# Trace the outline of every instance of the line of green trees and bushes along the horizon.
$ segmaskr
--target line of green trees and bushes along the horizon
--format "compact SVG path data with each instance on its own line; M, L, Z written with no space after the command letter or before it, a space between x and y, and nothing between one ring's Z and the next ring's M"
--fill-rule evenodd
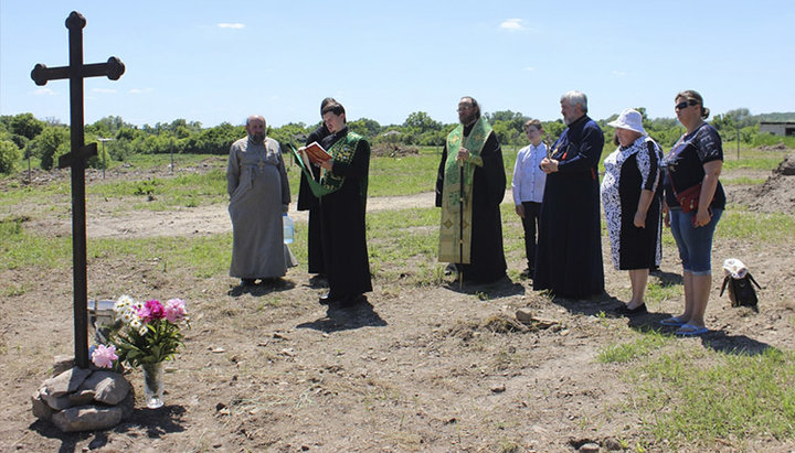
M664 148L670 147L681 136L683 129L675 118L647 118L646 109L639 107L644 118L644 127L649 134ZM524 145L527 138L522 126L530 119L518 111L500 110L484 114L491 123L495 133L504 145ZM607 122L617 115L598 120L607 137L612 128ZM759 133L762 120L795 120L793 114L751 115L749 109L739 108L717 115L711 123L721 132L724 140L736 140L750 145L774 144L781 138L765 137ZM552 143L565 129L562 120L542 121L545 140ZM320 122L306 125L290 122L278 128L268 128L268 136L280 143L303 144L304 138L315 130ZM373 144L442 147L447 133L455 127L453 123L436 121L424 111L409 115L402 125L381 126L378 121L360 118L349 121L350 130L368 137ZM245 137L242 125L234 126L222 122L219 126L204 128L201 122L176 119L170 123L158 122L155 126L138 127L125 122L121 117L109 116L86 125L86 143L98 142L99 139L112 139L106 147L98 147L99 154L89 160L88 165L100 168L102 153L105 160L125 161L136 153L195 153L226 154L235 140ZM788 141L788 140L787 140ZM612 149L610 140L605 145ZM795 145L795 143L787 143ZM0 173L8 174L14 170L20 159L36 158L44 170L57 164L57 159L70 151L70 129L57 120L41 120L33 114L0 116ZM105 151L103 151L105 149Z

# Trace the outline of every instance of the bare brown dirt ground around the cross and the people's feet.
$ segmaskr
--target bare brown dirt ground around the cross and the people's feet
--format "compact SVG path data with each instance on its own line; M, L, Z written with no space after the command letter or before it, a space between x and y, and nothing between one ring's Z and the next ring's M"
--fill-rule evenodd
M792 214L795 176L765 173L782 182L768 185L766 193L729 185L730 202L751 205L768 195L774 202L766 209ZM89 183L95 176L89 175ZM20 205L0 212L0 218L25 215L25 228L68 235L68 197L53 203L46 208ZM89 203L89 240L205 236L231 228L221 204L125 214L115 203L125 202ZM432 194L421 194L371 198L368 207L432 204ZM301 220L301 214L295 217ZM672 347L742 354L795 347L792 250L716 241L717 277L707 316L712 332ZM377 277L368 303L349 311L319 305L322 281L301 270L290 270L276 284L242 289L229 277L199 279L160 259L89 257L92 298L180 296L188 301L192 328L187 347L167 369L163 408L148 410L138 401L130 420L108 431L77 434L38 421L29 400L50 376L53 356L73 350L72 270L2 271L3 284L22 290L4 291L11 295L0 311L0 378L6 382L0 390L0 451L572 452L589 442L601 444L602 451L621 442L669 451L667 444L654 443L633 410L636 396L623 375L626 366L601 364L596 356L638 336L638 328L656 327L660 319L678 314L681 296L651 304L648 315L633 320L598 316L629 295L627 276L610 266L606 238L603 254L606 294L589 301L550 301L526 279L459 289L453 278L416 285ZM718 296L720 266L730 257L743 259L763 285L761 313L732 309L725 296ZM509 267L522 269L523 262ZM667 247L651 279L677 283L680 276L676 252ZM517 323L518 309L550 325ZM140 398L140 371L131 370L128 378ZM793 447L792 440L760 436L745 444L723 440L708 450Z

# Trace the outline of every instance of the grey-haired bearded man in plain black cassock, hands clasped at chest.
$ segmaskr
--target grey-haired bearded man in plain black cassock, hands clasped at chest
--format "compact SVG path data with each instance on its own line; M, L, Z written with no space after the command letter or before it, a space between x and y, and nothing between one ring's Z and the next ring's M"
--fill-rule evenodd
M598 161L604 134L581 91L561 97L568 128L541 161L547 185L539 220L534 290L586 299L604 292Z

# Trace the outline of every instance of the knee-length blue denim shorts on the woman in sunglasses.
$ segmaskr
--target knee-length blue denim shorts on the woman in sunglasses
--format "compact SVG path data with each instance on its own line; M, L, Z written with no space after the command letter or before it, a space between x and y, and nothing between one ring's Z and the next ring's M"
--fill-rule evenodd
M712 273L712 236L723 209L712 209L712 219L702 227L693 227L696 211L682 213L681 209L670 211L671 235L679 248L682 269L693 276Z

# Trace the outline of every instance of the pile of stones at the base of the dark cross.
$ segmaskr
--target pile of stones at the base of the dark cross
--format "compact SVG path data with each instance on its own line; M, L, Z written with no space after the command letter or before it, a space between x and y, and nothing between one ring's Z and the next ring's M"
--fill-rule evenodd
M85 369L68 360L31 396L33 414L63 432L105 430L132 414L135 395L118 373Z

